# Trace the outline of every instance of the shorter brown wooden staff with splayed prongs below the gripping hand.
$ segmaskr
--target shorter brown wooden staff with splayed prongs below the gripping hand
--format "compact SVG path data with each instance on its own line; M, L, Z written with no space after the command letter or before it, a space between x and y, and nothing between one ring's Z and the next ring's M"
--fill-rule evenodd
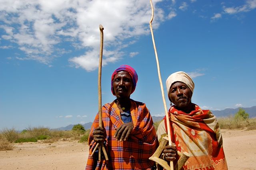
M100 58L99 58L99 70L98 70L98 106L99 106L99 127L102 127L102 106L101 106L101 66L102 66L102 51L103 51L103 29L102 25L100 27ZM94 152L98 148L99 150L99 160L101 160L101 148L104 153L105 159L108 160L108 154L103 144L95 146L94 150L92 151L91 157L93 156Z

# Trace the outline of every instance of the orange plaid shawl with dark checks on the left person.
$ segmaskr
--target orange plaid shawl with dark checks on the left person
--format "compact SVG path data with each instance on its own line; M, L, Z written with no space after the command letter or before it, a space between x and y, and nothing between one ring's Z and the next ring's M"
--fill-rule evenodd
M109 160L108 162L98 161L96 170L151 170L154 167L154 162L148 160L158 147L152 117L145 104L134 100L131 100L130 111L134 128L128 140L120 142L113 137L116 132L115 128L124 123L118 107L115 102L102 107L102 122L107 133L105 148ZM98 160L98 158L90 157L96 145L92 134L96 127L98 127L98 114L94 119L88 139L90 151L86 170L92 170L94 161Z

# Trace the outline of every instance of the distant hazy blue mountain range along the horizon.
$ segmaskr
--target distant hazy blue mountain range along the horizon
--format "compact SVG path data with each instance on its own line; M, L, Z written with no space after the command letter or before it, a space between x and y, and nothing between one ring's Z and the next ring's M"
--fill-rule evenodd
M256 106L252 107L238 107L236 109L224 109L224 110L211 110L216 117L228 117L229 115L234 115L236 112L238 112L239 108L242 108L246 111L246 113L249 113L250 117L256 117ZM152 116L152 119L154 122L160 121L164 118L164 116ZM59 127L56 128L56 130L61 131L69 131L73 128L74 125L68 125L66 127ZM92 126L92 122L85 123L83 125L84 129L90 129Z

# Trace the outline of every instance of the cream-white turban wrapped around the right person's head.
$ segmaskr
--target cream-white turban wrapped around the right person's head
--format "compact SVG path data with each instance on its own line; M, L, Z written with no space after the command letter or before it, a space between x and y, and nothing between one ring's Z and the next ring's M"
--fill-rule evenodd
M178 71L178 72L172 73L166 80L166 88L167 88L168 96L169 96L170 87L172 86L172 84L174 82L185 83L188 86L188 88L190 88L191 92L193 93L195 84L194 84L192 78L186 72Z

